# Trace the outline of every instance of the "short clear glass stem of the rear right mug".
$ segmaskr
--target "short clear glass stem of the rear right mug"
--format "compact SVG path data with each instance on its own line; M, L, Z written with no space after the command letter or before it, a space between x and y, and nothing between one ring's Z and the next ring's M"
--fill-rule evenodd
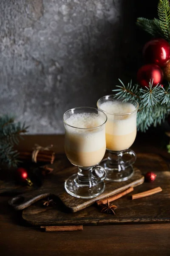
M122 151L110 151L108 150L107 166L111 169L116 168L118 171L122 171Z

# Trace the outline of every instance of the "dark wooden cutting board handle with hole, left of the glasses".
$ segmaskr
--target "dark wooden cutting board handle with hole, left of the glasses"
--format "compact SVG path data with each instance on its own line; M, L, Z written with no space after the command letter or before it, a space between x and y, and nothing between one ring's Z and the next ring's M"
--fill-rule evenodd
M46 198L50 196L51 193L42 193L40 194L40 191L32 192L30 194L26 193L23 195L17 195L13 198L11 198L8 201L8 204L11 205L15 210L23 210L26 207L30 206L31 204L34 204L35 202L39 201L42 198Z

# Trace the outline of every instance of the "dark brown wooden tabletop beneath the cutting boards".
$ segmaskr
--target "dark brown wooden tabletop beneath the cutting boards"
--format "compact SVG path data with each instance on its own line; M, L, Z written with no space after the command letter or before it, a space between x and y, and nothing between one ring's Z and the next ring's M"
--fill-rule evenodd
M56 152L64 152L62 135L25 136L20 148L31 149L34 143L52 143ZM160 154L170 162L163 144L162 132L138 134L132 149ZM11 209L8 199L0 196L0 256L170 255L170 224L85 226L79 232L43 233L38 228L23 226L21 212Z

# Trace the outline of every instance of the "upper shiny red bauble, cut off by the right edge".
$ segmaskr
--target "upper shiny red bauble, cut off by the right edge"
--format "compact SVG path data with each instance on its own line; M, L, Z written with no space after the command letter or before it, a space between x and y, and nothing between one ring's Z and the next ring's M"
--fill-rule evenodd
M170 59L170 44L163 38L150 40L144 45L144 60L163 67Z

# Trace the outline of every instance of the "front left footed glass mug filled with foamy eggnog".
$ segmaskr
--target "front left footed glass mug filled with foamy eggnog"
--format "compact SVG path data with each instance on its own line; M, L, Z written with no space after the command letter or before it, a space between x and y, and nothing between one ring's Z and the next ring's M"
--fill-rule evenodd
M65 154L78 173L65 181L65 190L77 198L94 198L105 189L107 172L97 166L105 155L107 116L96 108L73 108L64 113Z

